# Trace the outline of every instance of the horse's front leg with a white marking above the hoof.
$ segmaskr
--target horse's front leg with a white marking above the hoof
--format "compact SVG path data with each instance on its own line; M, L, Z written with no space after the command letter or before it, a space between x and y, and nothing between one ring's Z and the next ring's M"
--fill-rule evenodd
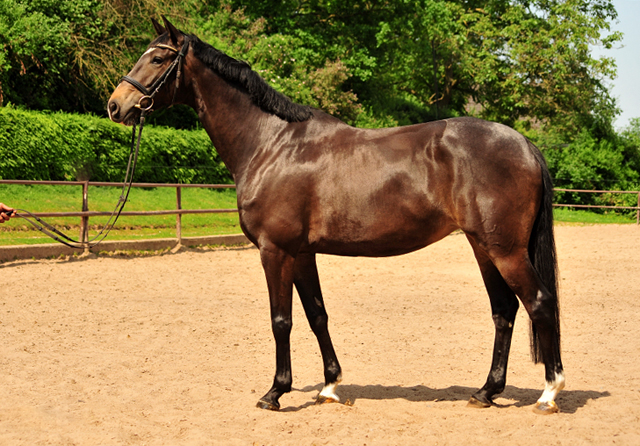
M324 363L325 385L318 395L318 403L338 402L335 390L342 379L342 371L333 349L327 327L328 316L324 308L315 254L300 254L294 268L294 284L309 320L311 330L318 339Z

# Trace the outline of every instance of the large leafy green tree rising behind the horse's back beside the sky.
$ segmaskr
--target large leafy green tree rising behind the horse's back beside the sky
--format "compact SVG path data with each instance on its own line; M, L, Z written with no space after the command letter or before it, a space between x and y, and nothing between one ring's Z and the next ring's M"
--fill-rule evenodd
M401 123L477 114L512 126L610 131L610 0L234 0L269 34L340 58L365 109ZM311 58L313 63L313 58Z

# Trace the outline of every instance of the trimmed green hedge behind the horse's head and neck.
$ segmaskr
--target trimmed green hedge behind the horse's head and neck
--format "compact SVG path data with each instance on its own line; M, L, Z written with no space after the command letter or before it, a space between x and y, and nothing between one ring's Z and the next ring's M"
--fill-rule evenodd
M122 181L131 128L91 115L0 107L0 178ZM150 183L231 183L204 130L145 126L134 177Z

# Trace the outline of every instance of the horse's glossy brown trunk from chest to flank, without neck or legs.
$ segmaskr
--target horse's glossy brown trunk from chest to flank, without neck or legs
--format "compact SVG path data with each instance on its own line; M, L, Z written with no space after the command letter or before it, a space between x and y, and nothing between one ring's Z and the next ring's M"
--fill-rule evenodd
M509 169L493 167L487 158L495 154L465 134L475 120L452 121L338 126L315 130L304 144L285 140L254 176L250 203L241 203L245 231L291 251L361 256L402 254L441 239L476 218L478 200L491 196L493 171Z

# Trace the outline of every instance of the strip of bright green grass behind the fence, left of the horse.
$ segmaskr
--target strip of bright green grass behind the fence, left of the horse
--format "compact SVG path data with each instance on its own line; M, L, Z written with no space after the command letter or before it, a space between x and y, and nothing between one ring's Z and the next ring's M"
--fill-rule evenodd
M89 210L113 211L121 188L89 187ZM0 185L0 201L30 212L76 212L82 210L81 186ZM175 188L132 188L125 211L176 208ZM235 209L234 189L182 188L182 209ZM89 219L89 238L97 234L107 217ZM80 232L80 217L49 217L46 221L73 238ZM239 234L237 213L182 216L182 236ZM135 240L176 237L176 216L121 216L108 240ZM0 245L49 243L51 239L34 230L21 218L0 226Z

